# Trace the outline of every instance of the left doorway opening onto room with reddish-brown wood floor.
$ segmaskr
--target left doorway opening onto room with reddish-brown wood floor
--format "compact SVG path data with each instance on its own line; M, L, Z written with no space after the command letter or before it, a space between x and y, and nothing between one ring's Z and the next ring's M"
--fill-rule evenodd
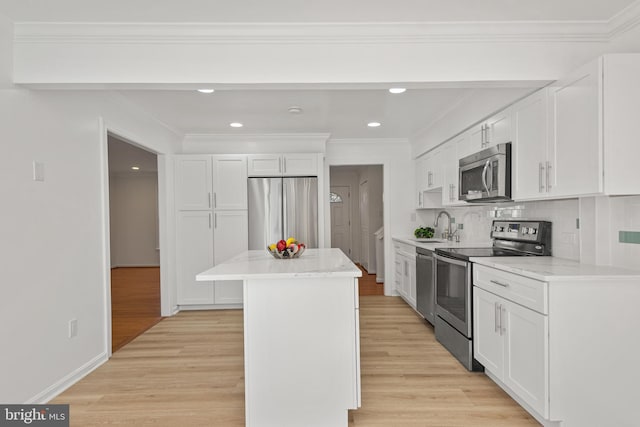
M107 135L111 350L158 323L160 243L157 155Z

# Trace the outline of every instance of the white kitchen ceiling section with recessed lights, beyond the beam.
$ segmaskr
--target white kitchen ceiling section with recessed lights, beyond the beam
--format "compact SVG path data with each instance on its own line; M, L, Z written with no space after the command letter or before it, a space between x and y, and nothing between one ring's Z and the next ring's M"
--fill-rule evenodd
M129 90L121 93L181 133L330 133L332 138L406 138L472 89ZM288 109L300 107L300 114ZM382 124L370 128L367 123ZM232 128L231 122L243 123Z

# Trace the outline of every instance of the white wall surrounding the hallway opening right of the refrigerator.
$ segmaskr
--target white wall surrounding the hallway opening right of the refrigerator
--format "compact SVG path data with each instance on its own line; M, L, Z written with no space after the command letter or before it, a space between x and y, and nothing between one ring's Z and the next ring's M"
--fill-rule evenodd
M326 173L329 166L340 165L382 165L383 202L385 227L385 253L392 251L391 236L406 234L411 228L413 192L404 191L407 185L413 188L413 160L411 148L406 140L330 140L326 151ZM329 192L329 183L325 194ZM329 221L327 203L325 221ZM413 222L415 224L415 221ZM413 226L415 228L415 226ZM413 230L413 228L411 228ZM329 223L325 227L327 242L331 241ZM393 271L391 257L385 258L385 271ZM393 284L385 282L385 295L393 294Z

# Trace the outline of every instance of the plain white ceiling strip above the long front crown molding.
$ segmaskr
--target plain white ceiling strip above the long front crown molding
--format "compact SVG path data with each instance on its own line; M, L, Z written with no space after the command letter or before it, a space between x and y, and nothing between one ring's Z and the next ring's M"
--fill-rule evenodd
M606 21L633 0L2 0L15 22Z

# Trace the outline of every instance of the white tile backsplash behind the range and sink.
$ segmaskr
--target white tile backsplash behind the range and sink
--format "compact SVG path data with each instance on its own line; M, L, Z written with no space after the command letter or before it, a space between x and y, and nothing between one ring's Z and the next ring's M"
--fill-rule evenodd
M553 255L580 259L580 233L576 228L579 217L578 199L421 209L416 211L418 225L433 226L435 215L441 210L446 210L455 218L456 224L463 224L463 229L458 230L458 233L461 241L467 243L487 242L490 239L491 224L497 217L551 221ZM441 217L436 230L437 236L440 236L447 225L446 217Z

